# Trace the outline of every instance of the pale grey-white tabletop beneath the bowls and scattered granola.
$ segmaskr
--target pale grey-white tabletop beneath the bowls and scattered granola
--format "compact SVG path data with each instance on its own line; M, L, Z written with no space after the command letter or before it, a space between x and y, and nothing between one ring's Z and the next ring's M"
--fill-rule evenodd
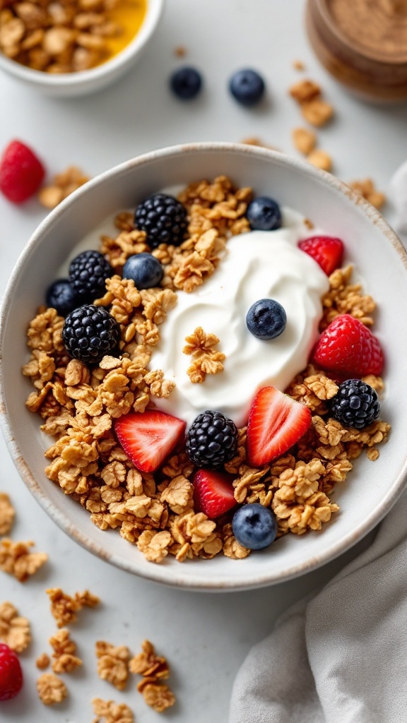
M407 106L372 106L338 87L309 48L303 6L303 0L167 0L161 27L138 66L114 87L88 98L43 98L1 76L0 147L17 137L37 150L50 175L75 163L92 176L130 156L185 141L256 136L295 153L290 132L301 118L287 91L308 76L321 83L336 109L335 121L318 133L319 146L332 155L335 174L345 181L370 176L386 192L407 153ZM175 56L176 46L185 46L185 59ZM296 59L306 66L303 74L293 69ZM187 62L201 69L205 88L198 100L180 103L169 94L167 77ZM227 93L230 74L245 66L259 69L267 80L268 102L261 110L241 108ZM390 202L384 213L391 222ZM35 201L17 207L0 197L1 288L44 215ZM172 665L169 683L178 702L167 719L226 722L232 680L250 646L272 629L283 609L324 583L357 552L297 581L259 591L167 589L112 568L65 536L25 489L2 439L0 444L0 490L9 493L17 508L12 537L32 539L49 554L49 563L25 585L0 573L0 601L12 601L33 630L33 642L21 656L25 688L13 701L0 703L2 723L88 723L95 696L126 702L139 723L154 723L159 715L146 706L133 682L119 693L96 674L96 640L127 644L136 652L144 638ZM84 664L65 676L69 698L54 709L38 701L34 664L38 654L49 650L55 630L45 592L51 586L70 594L88 588L102 600L71 627Z

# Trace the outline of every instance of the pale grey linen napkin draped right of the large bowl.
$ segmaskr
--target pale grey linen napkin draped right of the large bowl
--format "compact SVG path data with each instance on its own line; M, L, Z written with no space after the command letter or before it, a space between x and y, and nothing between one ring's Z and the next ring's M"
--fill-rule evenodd
M390 193L407 247L407 163ZM370 547L249 651L230 723L407 723L407 492Z

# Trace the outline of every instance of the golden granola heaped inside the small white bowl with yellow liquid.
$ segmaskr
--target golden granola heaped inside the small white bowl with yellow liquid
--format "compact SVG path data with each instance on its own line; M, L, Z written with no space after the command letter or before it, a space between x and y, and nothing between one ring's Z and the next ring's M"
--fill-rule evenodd
M123 33L112 11L123 0L12 0L0 3L0 51L34 70L72 73L112 56ZM138 12L127 5L127 12Z

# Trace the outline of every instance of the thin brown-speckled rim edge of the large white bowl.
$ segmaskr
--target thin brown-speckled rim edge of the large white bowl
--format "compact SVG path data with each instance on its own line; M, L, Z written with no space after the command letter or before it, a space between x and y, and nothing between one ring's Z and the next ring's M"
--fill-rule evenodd
M143 166L151 162L159 161L162 158L177 158L177 156L182 153L219 153L222 151L238 152L248 155L259 155L261 158L269 158L272 159L272 161L274 162L277 161L277 163L288 165L294 170L301 170L306 175L313 176L314 179L319 179L319 181L323 180L324 183L329 184L330 187L335 189L339 194L345 195L345 197L350 199L353 204L355 204L356 206L358 206L358 208L362 210L364 215L367 216L368 220L371 223L379 227L379 231L381 231L381 233L386 236L387 240L390 241L390 244L392 244L395 251L398 253L398 256L400 257L400 262L402 262L403 267L407 270L406 249L403 247L400 239L398 239L395 231L393 231L393 228L391 228L389 223L385 221L385 218L383 218L379 211L363 197L361 197L361 195L358 194L353 188L345 184L340 179L335 178L335 176L332 176L327 171L322 171L319 168L311 166L310 163L303 161L303 159L295 158L286 153L281 153L280 151L269 150L265 147L251 146L242 143L196 142L172 145L169 147L162 147L158 150L153 150L148 153L143 153L142 155L138 155L128 161L119 163L117 166L109 168L101 174L98 174L98 176L91 179L82 187L70 194L70 196L64 199L54 210L52 210L46 216L46 218L43 219L43 221L38 225L33 234L30 236L27 244L25 244L25 247L22 250L20 257L18 257L17 262L14 265L12 274L9 277L9 282L7 283L7 288L4 292L0 308L0 348L2 347L3 343L4 325L7 320L7 315L11 304L12 289L14 288L15 281L20 275L20 267L24 265L26 258L30 256L33 248L41 242L41 236L43 235L43 232L46 231L50 226L53 226L54 223L57 223L59 216L64 213L64 210L75 204L75 200L77 199L77 197L86 194L88 189L91 189L91 187L95 188L99 185L103 185L105 181L112 181L115 176L120 176L121 174L129 171L135 166ZM364 520L362 520L361 523L359 523L358 526L353 529L351 533L346 534L339 541L330 544L329 549L322 549L322 551L319 552L318 555L313 555L310 560L298 563L296 565L290 565L290 567L285 568L285 570L274 572L271 574L264 573L263 575L259 575L257 573L255 580L246 581L246 583L242 578L225 580L222 582L213 582L210 579L204 581L200 576L196 576L193 573L188 574L188 577L186 578L185 576L182 576L182 574L177 575L173 568L169 575L165 566L154 565L153 563L148 565L147 568L140 569L137 564L137 560L124 560L122 559L122 557L120 557L120 555L106 552L106 549L104 549L104 547L96 544L91 539L88 539L88 536L75 529L67 514L62 512L62 510L59 510L59 508L56 508L56 506L51 502L51 500L49 500L49 498L47 498L46 495L41 492L41 489L38 486L38 482L36 482L35 477L30 472L30 469L28 469L28 466L22 457L22 453L19 446L17 445L17 441L14 439L14 434L7 416L4 376L1 364L0 427L1 431L3 432L7 448L12 457L12 461L14 462L17 471L22 477L23 482L25 482L33 497L35 497L35 500L39 502L43 510L46 511L46 513L59 526L60 529L62 529L68 536L75 539L75 542L87 549L88 552L92 552L93 555L100 557L102 560L110 562L111 564L115 565L118 568L121 568L122 570L133 573L136 576L140 576L142 578L164 584L166 586L185 590L226 592L257 589L271 586L277 583L286 582L305 573L311 572L311 570L316 570L327 562L332 562L332 560L335 560L336 557L342 555L348 549L353 547L356 542L361 540L364 536L366 536L366 534L372 531L372 529L374 529L377 523L379 523L382 518L387 515L387 513L393 507L395 502L398 500L398 497L400 497L400 495L402 494L403 489L405 489L407 485L406 457L402 469L400 469L398 476L393 480L393 484L387 490L387 493L384 495L380 505L378 505L377 508L372 511L372 513L367 515L366 518L364 518Z

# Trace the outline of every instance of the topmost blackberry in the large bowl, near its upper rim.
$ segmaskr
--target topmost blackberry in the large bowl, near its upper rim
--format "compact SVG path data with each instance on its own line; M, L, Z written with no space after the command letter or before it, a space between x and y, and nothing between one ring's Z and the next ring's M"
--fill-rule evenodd
M156 193L141 202L135 210L135 226L146 231L152 249L159 244L179 246L187 229L187 212L173 196Z

